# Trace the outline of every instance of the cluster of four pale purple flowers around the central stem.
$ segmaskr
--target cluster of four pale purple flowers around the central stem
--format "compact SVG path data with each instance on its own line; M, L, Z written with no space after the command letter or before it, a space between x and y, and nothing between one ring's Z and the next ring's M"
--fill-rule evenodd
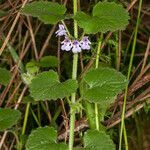
M61 50L70 51L73 53L79 53L81 50L89 50L91 42L88 36L84 36L81 41L71 40L67 35L65 27L60 24L59 29L55 32L56 36L65 36L65 39L61 42Z

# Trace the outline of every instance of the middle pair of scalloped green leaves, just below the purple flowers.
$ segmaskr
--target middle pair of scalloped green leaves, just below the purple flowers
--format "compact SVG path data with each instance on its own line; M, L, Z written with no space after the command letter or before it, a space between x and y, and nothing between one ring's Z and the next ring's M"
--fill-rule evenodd
M83 81L88 85L81 97L90 102L101 105L109 105L115 96L126 86L125 76L111 68L99 68L90 70ZM50 70L38 74L29 85L32 97L35 100L56 100L70 96L78 85L76 80L69 79L59 82L56 72Z

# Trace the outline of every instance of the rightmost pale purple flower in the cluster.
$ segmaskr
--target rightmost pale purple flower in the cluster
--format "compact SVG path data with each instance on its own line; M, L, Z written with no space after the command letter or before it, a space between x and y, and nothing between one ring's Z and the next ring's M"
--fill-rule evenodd
M83 50L89 50L91 48L90 44L91 42L89 41L88 36L84 36L80 41L80 45Z

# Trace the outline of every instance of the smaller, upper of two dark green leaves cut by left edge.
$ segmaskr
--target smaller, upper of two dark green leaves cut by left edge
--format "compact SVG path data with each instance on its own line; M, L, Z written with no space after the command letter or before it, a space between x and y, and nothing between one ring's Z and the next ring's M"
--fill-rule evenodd
M10 81L11 74L5 68L0 68L0 84L7 85Z

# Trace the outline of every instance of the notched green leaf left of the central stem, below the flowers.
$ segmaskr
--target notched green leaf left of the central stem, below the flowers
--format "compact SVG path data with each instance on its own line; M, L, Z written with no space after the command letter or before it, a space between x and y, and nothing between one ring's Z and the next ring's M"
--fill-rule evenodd
M63 83L58 80L54 71L38 74L29 85L31 96L35 100L56 100L70 96L77 89L76 80L69 79Z

